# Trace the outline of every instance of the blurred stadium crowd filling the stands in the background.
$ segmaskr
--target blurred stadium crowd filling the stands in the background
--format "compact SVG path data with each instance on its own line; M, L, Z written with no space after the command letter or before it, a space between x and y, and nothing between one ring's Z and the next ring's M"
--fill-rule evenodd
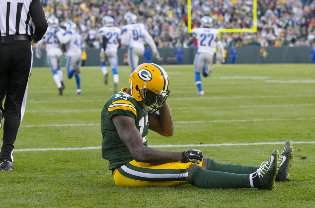
M158 48L188 47L187 3L184 0L48 0L47 15L65 22L72 19L83 36L83 47L100 47L97 29L102 17L110 15L117 26L131 11L146 25ZM192 27L203 15L215 28L252 28L252 0L192 0ZM223 33L224 46L309 46L315 41L315 0L257 1L257 33Z

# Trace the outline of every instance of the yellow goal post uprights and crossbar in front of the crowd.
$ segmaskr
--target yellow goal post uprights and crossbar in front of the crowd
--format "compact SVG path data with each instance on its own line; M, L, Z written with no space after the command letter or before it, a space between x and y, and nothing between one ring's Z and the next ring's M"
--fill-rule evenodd
M192 0L187 0L187 23L188 32L192 33ZM243 29L218 29L221 36L222 32L257 32L257 0L253 0L253 28L243 28Z

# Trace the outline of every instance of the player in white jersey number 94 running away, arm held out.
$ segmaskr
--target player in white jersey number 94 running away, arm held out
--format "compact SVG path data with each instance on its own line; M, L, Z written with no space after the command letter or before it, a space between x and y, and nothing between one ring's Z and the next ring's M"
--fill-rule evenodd
M137 23L137 16L127 13L124 16L128 25L123 26L122 44L128 45L128 64L131 66L131 72L138 66L139 58L144 54L144 41L151 47L153 56L157 59L160 54L157 51L155 42L144 24Z

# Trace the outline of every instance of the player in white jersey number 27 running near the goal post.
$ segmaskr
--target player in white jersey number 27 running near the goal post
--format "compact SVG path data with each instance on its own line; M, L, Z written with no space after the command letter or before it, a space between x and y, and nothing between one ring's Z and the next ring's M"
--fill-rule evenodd
M198 52L196 53L194 60L195 82L198 88L197 95L204 94L201 86L200 73L202 72L204 77L211 75L214 55L213 49L216 47L215 42L220 41L218 39L219 31L217 29L210 28L213 24L212 19L209 16L203 16L200 19L200 22L201 27L193 29L194 32L192 34L192 37L189 39L187 43L188 45L190 45L195 40L198 41Z

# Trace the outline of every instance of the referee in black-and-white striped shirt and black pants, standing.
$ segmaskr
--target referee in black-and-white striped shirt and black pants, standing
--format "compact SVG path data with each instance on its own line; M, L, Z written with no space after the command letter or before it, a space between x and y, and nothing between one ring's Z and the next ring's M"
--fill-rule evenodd
M28 25L30 18L35 26L34 33L33 27ZM1 171L14 169L14 141L25 111L27 85L33 63L31 42L40 41L47 27L41 0L1 0L0 115L4 116Z

